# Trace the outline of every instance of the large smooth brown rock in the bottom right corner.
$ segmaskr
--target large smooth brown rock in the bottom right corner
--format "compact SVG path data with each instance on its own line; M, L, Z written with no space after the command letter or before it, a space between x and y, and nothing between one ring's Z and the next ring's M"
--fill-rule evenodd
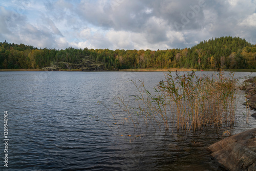
M256 170L256 128L216 142L208 149L228 170Z

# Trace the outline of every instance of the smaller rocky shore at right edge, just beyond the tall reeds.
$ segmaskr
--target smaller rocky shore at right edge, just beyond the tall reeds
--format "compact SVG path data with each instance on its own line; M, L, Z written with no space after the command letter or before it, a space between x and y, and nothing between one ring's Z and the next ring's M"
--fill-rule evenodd
M248 99L245 104L256 110L256 77L247 79L244 82L246 83L246 86L243 86L241 90L245 91L245 97Z

